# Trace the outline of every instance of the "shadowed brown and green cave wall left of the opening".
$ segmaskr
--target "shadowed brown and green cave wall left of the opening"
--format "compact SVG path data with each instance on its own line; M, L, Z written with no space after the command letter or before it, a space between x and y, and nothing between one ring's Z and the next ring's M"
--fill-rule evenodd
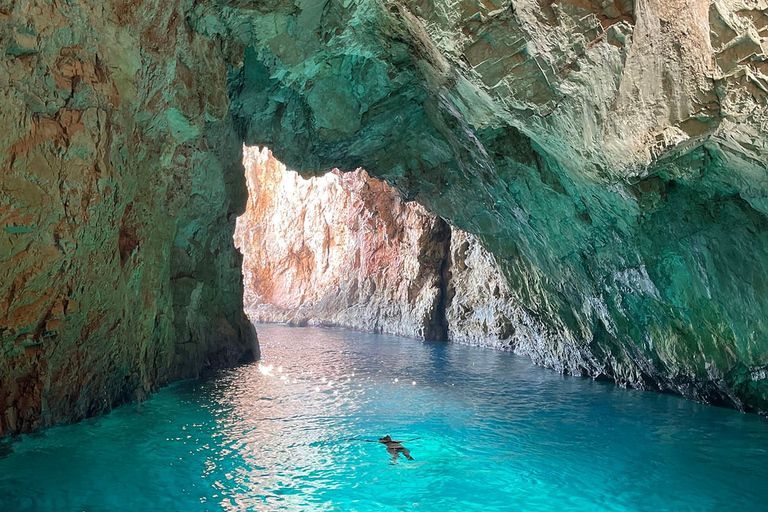
M220 41L191 2L0 2L0 435L258 350Z

